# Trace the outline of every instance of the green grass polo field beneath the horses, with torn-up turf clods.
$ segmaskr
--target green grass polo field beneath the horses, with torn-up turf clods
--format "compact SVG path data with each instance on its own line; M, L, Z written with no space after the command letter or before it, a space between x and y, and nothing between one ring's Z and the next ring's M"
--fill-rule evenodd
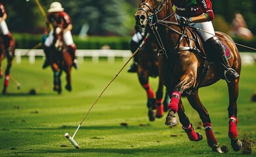
M10 80L8 94L0 95L0 156L256 156L256 103L250 96L256 90L256 65L242 67L238 97L238 133L240 139L252 143L252 153L234 152L228 137L228 93L224 80L202 88L200 96L208 109L219 146L229 147L227 154L217 154L208 147L198 114L183 98L187 116L196 131L204 135L199 142L191 142L181 124L164 126L165 116L149 122L146 94L137 75L127 73L128 67L107 88L92 108L75 135L81 145L75 149L64 133L73 135L84 114L103 88L124 63L92 63L84 60L73 70L72 92L61 95L53 92L52 71L41 69L43 60L31 65L26 59L14 63L11 75L22 84L20 90ZM5 67L5 65L4 65ZM62 86L65 86L65 74ZM157 79L150 79L156 89ZM3 79L0 80L1 88ZM35 90L36 95L29 91ZM128 126L122 126L126 123Z

